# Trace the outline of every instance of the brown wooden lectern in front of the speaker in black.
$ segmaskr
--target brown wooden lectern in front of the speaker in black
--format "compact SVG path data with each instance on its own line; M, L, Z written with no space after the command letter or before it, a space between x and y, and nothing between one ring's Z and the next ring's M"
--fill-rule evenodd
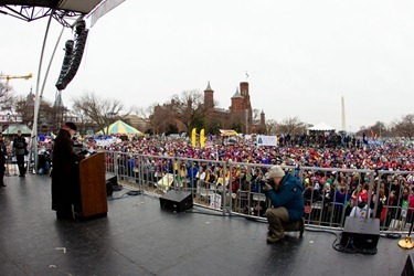
M105 216L108 212L105 183L105 153L97 152L79 162L82 217Z

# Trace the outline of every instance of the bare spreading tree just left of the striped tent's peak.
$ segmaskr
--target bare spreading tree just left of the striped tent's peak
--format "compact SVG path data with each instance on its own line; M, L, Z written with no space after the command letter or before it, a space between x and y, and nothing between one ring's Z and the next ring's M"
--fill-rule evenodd
M82 112L84 118L96 124L98 129L105 129L114 119L123 119L129 113L120 115L124 105L118 99L103 99L94 93L86 93L74 99L73 108ZM106 129L105 135L108 135Z

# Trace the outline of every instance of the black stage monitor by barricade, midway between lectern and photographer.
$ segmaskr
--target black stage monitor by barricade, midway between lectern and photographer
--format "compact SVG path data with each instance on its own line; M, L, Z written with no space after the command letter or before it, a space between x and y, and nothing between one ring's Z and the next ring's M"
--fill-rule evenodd
M192 194L184 191L171 190L160 198L160 205L163 210L182 212L192 208Z

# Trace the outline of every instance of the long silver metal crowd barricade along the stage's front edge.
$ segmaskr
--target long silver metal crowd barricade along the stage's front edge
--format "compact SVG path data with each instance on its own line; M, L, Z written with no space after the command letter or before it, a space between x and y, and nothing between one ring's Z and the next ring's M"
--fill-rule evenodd
M195 173L194 177L190 176L191 168L200 167L214 170L213 181L200 180L195 178ZM266 221L264 213L272 206L259 182L270 167L259 163L106 151L106 169L115 173L123 185L156 197L161 197L169 190L188 191L198 206L220 211L223 215L241 215L258 221ZM388 199L383 206L379 206L378 193L380 187L384 185L382 182L385 182L389 190L393 189L391 182L386 181L388 177L400 181L399 176L413 172L293 166L282 168L286 173L296 176L304 184L304 216L308 227L342 230L346 217L359 203L359 194L352 192L357 187L365 185L372 217L379 216L381 208L386 209L384 217L381 219L381 233L406 233L410 229L414 210L400 204L403 201L403 192L399 192L393 202ZM403 190L401 185L400 189Z

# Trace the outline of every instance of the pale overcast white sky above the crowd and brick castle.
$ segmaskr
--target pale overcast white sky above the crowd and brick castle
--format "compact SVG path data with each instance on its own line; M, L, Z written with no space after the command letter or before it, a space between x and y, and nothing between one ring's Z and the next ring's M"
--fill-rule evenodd
M126 107L166 103L210 81L229 108L240 82L266 119L298 117L346 130L414 114L414 1L408 0L127 0L91 29L75 78L63 92L72 106L86 92ZM0 72L33 73L15 92L35 88L47 20L0 14ZM43 73L62 26L53 21ZM43 97L54 102L64 44L59 44ZM246 78L246 72L248 78Z

